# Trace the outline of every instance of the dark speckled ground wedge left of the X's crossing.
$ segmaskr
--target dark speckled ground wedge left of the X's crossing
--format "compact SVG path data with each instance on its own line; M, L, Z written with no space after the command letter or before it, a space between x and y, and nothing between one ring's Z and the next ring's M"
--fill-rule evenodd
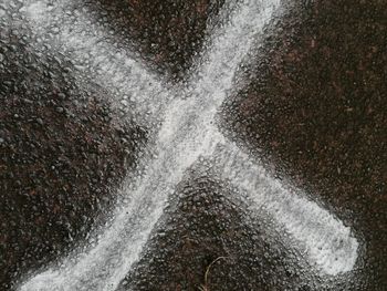
M0 290L9 290L108 211L145 132L117 121L101 89L79 87L71 64L2 33Z

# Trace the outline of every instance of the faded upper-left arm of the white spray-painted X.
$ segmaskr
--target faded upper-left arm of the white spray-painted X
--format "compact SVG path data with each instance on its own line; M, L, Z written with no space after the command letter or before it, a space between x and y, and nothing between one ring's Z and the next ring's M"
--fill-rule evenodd
M21 12L41 42L71 58L84 76L112 93L114 107L135 113L138 124L149 124L150 116L159 115L163 105L174 97L167 83L135 61L132 52L112 43L112 37L75 3L33 1Z

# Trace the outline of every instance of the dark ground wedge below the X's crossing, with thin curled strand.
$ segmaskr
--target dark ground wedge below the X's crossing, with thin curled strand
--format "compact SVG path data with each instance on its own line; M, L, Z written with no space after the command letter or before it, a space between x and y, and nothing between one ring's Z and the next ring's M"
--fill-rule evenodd
M119 290L324 290L271 222L208 172L191 169L156 229Z

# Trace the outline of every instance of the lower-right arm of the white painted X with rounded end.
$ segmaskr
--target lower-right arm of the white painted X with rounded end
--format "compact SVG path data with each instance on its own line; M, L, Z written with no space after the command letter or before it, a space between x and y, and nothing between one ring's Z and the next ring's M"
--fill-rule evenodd
M358 242L337 217L306 199L301 190L295 195L231 143L219 146L216 156L220 176L248 194L255 204L252 209L263 209L283 226L299 242L293 247L301 253L306 250L313 267L331 276L354 268Z

